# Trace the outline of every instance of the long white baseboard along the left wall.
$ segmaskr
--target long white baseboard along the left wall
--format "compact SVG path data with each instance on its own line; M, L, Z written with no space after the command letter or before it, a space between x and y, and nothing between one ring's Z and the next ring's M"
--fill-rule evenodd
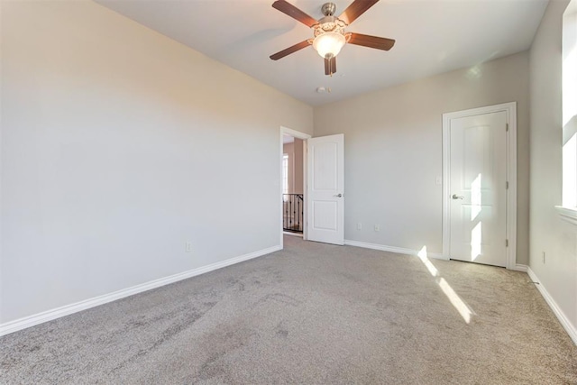
M215 262L197 269L180 272L178 274L174 274L169 277L160 278L159 280L151 280L149 282L142 283L140 285L136 285L131 288L114 291L112 293L108 293L95 298L89 298L70 305L65 305L63 307L57 307L51 310L43 311L41 313L34 314L32 316L25 316L23 318L10 321L5 324L0 324L0 336L8 335L10 333L14 333L18 330L22 330L27 327L31 327L33 325L39 325L56 318L60 318L61 316L69 316L70 314L86 310L90 307L97 307L99 305L104 305L108 302L115 301L117 299L130 297L133 296L134 294L142 293L143 291L160 288L160 286L178 282L179 280L186 280L188 278L195 277L197 275L204 274L209 271L234 265L235 263L252 260L253 258L261 257L262 255L270 254L270 252L277 252L279 250L282 250L282 247L280 247L279 245L273 246L268 249L260 250L258 252L250 252L248 254L230 258L225 261Z

